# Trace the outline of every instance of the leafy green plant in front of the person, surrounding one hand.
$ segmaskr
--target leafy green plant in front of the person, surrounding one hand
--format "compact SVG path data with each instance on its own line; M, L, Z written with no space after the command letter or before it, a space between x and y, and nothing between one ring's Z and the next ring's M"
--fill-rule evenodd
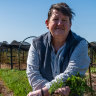
M65 82L63 80L57 80L49 89L49 93L52 95L61 87L69 86L71 89L69 96L82 96L83 93L93 92L93 90L87 85L86 78L77 74L76 76L69 77Z

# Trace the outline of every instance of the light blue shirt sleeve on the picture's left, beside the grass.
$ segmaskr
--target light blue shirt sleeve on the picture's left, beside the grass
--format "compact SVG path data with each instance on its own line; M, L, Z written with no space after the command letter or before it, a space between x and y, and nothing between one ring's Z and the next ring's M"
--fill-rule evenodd
M28 52L26 73L33 90L44 87L45 83L48 82L39 72L39 57L33 44L31 44Z

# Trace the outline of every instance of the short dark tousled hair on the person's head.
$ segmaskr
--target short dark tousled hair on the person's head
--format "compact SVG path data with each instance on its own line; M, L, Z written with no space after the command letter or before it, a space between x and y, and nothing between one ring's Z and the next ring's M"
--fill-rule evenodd
M51 15L52 15L53 9L60 11L62 14L68 16L70 22L73 18L73 15L75 15L75 13L72 11L72 9L66 3L57 3L57 4L51 5L49 12L48 12L48 20L50 19Z

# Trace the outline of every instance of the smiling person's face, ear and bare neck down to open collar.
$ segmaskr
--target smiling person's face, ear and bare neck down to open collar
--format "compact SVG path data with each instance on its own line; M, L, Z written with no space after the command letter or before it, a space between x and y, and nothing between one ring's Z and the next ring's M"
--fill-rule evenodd
M46 20L46 26L51 32L53 37L52 43L57 51L65 43L69 34L71 28L69 17L54 9L50 19ZM56 44L58 44L58 46Z

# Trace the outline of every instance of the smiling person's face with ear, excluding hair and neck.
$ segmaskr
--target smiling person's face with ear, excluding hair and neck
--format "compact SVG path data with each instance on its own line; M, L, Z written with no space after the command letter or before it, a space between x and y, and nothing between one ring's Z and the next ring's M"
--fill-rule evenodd
M53 38L66 38L70 31L71 23L68 16L63 15L61 12L54 9L49 21L46 21L46 26Z

